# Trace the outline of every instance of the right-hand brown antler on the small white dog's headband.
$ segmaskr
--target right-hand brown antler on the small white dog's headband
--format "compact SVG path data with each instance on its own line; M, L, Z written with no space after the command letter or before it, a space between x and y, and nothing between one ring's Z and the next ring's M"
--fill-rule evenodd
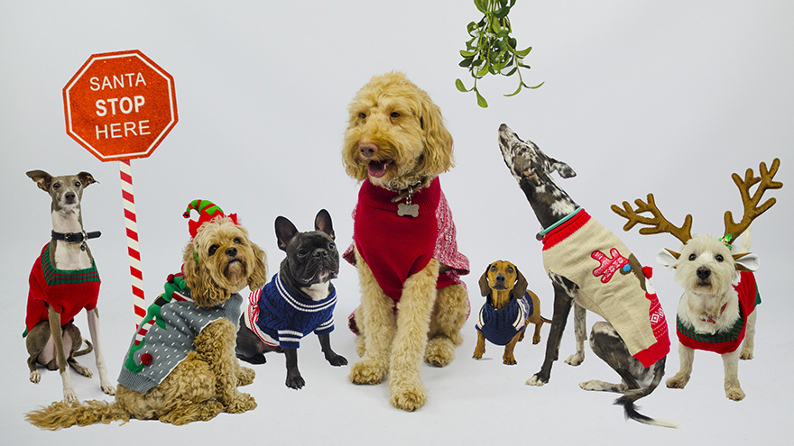
M734 223L734 215L731 211L725 211L724 235L731 234L733 240L736 240L742 232L750 227L750 223L752 223L754 219L758 218L759 215L765 213L771 206L777 203L775 198L770 198L762 205L759 205L764 192L768 189L780 189L780 187L783 187L783 183L780 181L772 180L775 174L778 173L778 168L780 168L780 159L776 158L772 160L772 165L769 169L766 168L766 163L761 163L759 166L761 177L755 177L752 173L752 168L748 168L744 172L744 179L739 177L739 174L734 173L731 175L731 177L734 178L736 187L739 187L739 193L742 196L742 204L744 205L744 214L739 223ZM756 184L758 187L755 189L755 193L750 196L750 188Z

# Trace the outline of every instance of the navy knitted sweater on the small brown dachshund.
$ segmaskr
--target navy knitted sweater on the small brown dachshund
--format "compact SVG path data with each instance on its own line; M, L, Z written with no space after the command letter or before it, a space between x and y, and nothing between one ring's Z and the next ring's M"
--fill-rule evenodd
M529 293L524 294L521 299L510 299L507 305L498 310L486 302L480 308L475 328L488 341L496 345L507 345L516 334L527 328L527 318L533 312Z

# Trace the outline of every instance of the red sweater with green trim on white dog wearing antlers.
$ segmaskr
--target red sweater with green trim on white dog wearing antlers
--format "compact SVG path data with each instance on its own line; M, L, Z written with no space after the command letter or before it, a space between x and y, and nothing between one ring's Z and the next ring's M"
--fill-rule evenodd
M755 283L755 275L750 271L742 271L740 280L734 285L739 295L739 318L730 328L716 333L697 332L691 325L676 317L676 334L679 342L690 349L714 351L725 354L735 351L744 341L744 332L747 328L747 317L750 316L756 305L761 304L761 294Z

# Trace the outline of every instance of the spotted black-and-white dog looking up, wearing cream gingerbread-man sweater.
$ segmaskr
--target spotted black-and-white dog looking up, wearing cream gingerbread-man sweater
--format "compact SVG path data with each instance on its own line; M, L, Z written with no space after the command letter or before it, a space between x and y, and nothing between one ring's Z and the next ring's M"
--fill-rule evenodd
M575 304L577 354L568 362L577 365L584 359L585 310L590 310L606 321L593 325L590 347L623 379L615 385L588 381L579 386L623 393L615 404L623 405L632 420L677 427L677 423L639 414L634 405L659 386L669 352L667 322L651 287L651 269L642 268L623 241L596 222L551 178L555 170L560 177L574 177L573 168L549 158L533 142L522 141L505 124L499 127L499 147L504 163L544 228L537 239L543 242L543 264L554 288L546 358L526 384L542 386L549 382L568 313Z

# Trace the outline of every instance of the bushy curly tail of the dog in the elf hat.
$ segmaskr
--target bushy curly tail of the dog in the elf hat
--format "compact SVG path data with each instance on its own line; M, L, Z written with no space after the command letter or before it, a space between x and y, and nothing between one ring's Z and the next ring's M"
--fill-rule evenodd
M111 423L117 420L130 421L130 415L117 403L106 401L56 401L47 407L25 414L25 420L34 426L56 431L71 426L88 426L94 423Z

